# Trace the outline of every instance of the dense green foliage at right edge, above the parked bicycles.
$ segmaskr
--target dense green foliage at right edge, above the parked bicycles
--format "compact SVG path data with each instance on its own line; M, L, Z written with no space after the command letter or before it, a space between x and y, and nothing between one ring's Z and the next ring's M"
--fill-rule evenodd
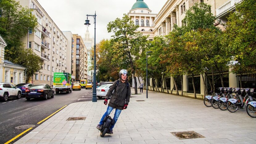
M256 67L256 2L244 0L228 17L226 36L235 60L233 73L245 73ZM250 70L249 70L250 69ZM254 69L255 72L255 69Z

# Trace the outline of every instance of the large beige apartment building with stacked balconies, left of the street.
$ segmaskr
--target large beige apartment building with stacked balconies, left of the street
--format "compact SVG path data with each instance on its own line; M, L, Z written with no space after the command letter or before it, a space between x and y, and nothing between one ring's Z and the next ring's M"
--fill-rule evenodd
M37 0L19 0L19 2L23 7L29 7L38 22L35 31L29 31L27 36L21 38L26 48L31 48L40 57L42 63L42 70L36 72L30 82L52 85L54 72L68 72L68 39Z

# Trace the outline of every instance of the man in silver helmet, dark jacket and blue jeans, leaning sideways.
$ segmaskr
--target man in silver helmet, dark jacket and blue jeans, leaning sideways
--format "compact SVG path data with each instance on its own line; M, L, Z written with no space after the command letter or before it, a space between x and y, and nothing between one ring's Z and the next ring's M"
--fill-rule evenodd
M121 111L127 108L128 103L130 101L131 86L128 82L127 77L128 77L127 70L122 69L119 72L119 79L114 81L114 83L110 86L108 93L106 94L104 104L107 105L108 100L110 99L109 105L107 107L107 111L103 114L101 121L99 122L96 128L100 130L101 126L104 123L103 122L104 118L108 116L113 109L116 109L114 118L113 118L114 124L111 125L109 131L107 132L108 134L113 134L114 125L117 122Z

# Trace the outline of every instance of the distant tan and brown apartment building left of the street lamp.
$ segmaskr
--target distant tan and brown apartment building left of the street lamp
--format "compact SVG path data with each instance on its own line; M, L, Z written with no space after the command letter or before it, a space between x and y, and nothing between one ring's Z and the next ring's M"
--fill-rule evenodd
M75 75L75 81L85 79L85 51L86 47L83 42L83 39L78 34L73 34L74 39L74 56L72 58L72 75Z

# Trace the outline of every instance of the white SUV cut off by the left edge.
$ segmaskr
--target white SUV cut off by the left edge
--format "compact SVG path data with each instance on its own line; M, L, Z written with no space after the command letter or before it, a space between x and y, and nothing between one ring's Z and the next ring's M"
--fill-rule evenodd
M0 83L0 100L7 101L9 97L21 97L21 90L10 83Z

